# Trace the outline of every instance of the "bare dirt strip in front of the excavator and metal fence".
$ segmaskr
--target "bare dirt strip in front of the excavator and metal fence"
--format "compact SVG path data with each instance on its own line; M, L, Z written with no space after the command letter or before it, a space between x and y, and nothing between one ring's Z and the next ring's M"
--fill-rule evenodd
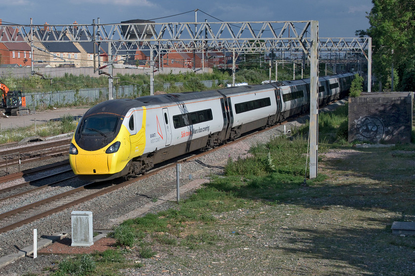
M29 115L5 116L0 114L0 129L8 130L30 125L43 124L51 119L59 119L64 115L82 116L89 108L56 108L32 112Z

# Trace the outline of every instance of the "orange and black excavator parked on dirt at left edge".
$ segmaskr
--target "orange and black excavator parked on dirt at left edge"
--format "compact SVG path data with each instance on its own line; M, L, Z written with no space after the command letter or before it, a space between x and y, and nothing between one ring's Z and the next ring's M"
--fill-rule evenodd
M26 97L21 90L10 91L5 84L0 83L0 91L1 107L5 114L29 114L29 108L26 107Z

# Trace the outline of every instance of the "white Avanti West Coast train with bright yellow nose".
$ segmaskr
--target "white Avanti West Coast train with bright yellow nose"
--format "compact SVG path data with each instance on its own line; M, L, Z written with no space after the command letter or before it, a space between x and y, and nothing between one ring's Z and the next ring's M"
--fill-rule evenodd
M318 104L346 96L353 77L319 77ZM130 178L166 160L281 123L309 107L310 79L109 100L84 113L69 161L83 180Z

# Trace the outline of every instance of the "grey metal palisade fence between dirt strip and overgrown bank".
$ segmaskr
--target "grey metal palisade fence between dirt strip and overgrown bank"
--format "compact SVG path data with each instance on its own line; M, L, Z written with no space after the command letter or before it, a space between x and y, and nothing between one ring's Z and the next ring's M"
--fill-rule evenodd
M215 80L202 80L200 81L207 88L212 87L213 85L217 86L219 81ZM229 81L222 81L223 84L228 83ZM163 88L167 90L175 85L177 87L182 87L183 82L175 83L163 83ZM156 87L161 87L156 84ZM148 95L150 88L147 84L143 85L120 85L117 89L114 89L114 99L123 99L123 98L137 98L142 95ZM26 105L29 106L31 112L36 109L44 109L49 106L72 106L72 105L82 105L82 104L91 104L98 103L105 100L108 100L108 87L103 88L86 88L76 90L65 90L65 91L53 91L53 92L44 92L44 93L25 93L26 96Z

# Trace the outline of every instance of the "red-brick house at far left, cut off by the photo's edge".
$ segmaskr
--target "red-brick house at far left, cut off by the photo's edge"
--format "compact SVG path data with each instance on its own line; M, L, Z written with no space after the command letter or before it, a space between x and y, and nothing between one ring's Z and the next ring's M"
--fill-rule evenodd
M1 19L0 19L1 25ZM7 37L14 41L22 42L2 42L8 41ZM14 32L14 28L5 27L0 29L0 64L17 64L19 67L31 66L32 57L30 45L23 42L21 35Z

